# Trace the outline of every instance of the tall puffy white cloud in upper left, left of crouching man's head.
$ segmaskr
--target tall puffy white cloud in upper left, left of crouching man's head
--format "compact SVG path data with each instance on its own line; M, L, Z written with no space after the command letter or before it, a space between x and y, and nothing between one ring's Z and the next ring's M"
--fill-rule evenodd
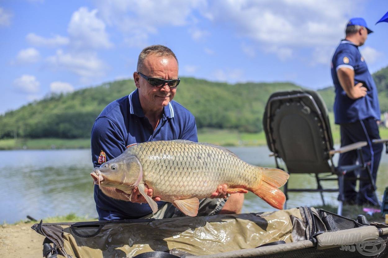
M71 45L77 50L111 48L113 43L105 30L105 23L97 18L97 9L89 12L81 7L74 12L68 27Z

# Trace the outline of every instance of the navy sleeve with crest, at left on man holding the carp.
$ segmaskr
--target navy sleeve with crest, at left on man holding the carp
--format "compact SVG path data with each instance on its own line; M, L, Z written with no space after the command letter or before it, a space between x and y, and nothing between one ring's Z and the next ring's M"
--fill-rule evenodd
M99 167L102 163L119 156L125 151L123 133L112 120L99 117L95 121L92 128L91 149L94 167ZM106 160L103 158L104 155L106 155Z

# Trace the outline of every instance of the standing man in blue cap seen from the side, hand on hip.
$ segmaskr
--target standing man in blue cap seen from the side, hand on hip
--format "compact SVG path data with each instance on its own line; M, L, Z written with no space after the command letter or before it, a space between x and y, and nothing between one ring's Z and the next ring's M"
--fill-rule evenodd
M362 155L365 161L371 161L372 178L376 181L383 144L372 144L371 141L380 138L377 124L380 107L376 85L359 52L359 46L364 45L369 33L372 31L364 19L350 19L346 37L334 52L331 76L336 92L334 116L335 123L340 125L341 146L366 141L368 145L362 148ZM341 153L338 165L354 164L356 160L355 150ZM367 171L362 170L361 176L366 176L365 173ZM348 172L345 177L355 177L355 174ZM345 180L344 203L379 205L368 181L360 181L358 193L355 186L355 180Z

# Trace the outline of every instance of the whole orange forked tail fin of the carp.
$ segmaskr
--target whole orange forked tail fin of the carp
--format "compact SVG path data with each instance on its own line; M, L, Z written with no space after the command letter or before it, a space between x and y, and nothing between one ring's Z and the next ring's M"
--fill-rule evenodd
M283 210L286 196L277 188L287 182L289 174L280 169L261 168L261 170L263 181L258 187L252 189L252 192L272 207Z

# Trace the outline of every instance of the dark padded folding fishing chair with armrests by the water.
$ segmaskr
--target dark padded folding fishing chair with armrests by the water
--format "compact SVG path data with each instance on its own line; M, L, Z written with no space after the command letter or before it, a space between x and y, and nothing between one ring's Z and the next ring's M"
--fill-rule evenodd
M339 192L337 213L341 215L344 175L357 169L367 169L369 176L352 179L369 180L376 190L370 173L370 162L362 157L361 148L367 143L358 142L334 150L327 108L316 91L300 89L273 93L265 108L263 127L268 148L275 157L276 166L281 168L279 166L279 159L281 159L286 166L286 169L281 169L286 170L290 175L314 174L317 181L317 187L310 189L291 189L286 183L284 185L286 198L288 198L288 192L319 192L325 205L323 192ZM334 154L351 150L357 150L359 164L341 167L334 165ZM325 180L338 181L338 188L322 187L321 181Z

